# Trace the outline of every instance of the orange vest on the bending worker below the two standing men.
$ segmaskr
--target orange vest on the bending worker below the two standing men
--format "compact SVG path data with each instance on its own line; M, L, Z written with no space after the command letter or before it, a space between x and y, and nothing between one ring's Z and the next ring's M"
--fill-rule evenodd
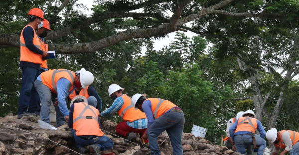
M57 81L61 78L68 79L72 86L69 90L71 92L74 88L74 78L76 77L75 72L67 69L53 69L48 70L40 74L41 81L44 85L48 86L52 92L57 94Z

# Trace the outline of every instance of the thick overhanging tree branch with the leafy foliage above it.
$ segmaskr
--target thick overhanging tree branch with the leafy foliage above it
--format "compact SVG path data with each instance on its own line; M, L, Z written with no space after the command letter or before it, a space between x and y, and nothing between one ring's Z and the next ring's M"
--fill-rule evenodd
M190 30L217 36L218 33L215 32L219 29L214 32L204 32L209 22L229 21L231 17L242 18L243 21L240 22L244 25L252 22L251 18L267 18L269 20L265 20L264 25L271 22L292 26L298 20L296 14L299 10L297 3L292 0L285 0L280 4L260 0L252 2L246 0L108 0L97 2L93 8L93 15L88 17L74 9L76 2L77 0L36 2L36 7L41 7L45 11L45 18L51 23L52 31L46 37L49 40L50 50L60 54L92 53L124 40L163 37L174 31ZM2 25L5 25L0 34L0 48L19 48L20 31L28 22L25 20L24 13L9 13L10 5L11 3L4 2L0 6L3 8L0 18L4 21ZM15 5L15 9L21 7L20 4ZM292 9L287 9L285 5L290 5ZM31 7L32 5L30 7L24 5L22 9L29 11ZM15 21L13 16L18 16L22 20ZM99 32L105 31L102 27L104 21L115 25L114 31L109 35L102 35ZM192 27L184 25L191 21L193 21ZM9 31L12 27L14 33ZM94 34L99 33L99 35L90 36L91 39L86 40L75 34L86 36L90 34L87 31L94 31ZM68 40L64 44L56 41L64 39Z

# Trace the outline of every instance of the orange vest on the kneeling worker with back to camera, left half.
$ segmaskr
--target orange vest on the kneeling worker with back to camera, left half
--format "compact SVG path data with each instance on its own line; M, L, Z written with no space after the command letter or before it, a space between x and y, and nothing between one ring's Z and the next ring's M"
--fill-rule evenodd
M77 136L103 136L98 122L99 110L87 103L74 103L73 129Z

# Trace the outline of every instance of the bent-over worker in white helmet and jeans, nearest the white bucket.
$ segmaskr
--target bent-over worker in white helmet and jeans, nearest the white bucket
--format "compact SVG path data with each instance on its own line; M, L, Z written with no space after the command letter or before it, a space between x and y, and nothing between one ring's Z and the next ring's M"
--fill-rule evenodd
M135 94L131 102L136 109L147 116L148 130L141 139L149 139L151 155L160 155L158 136L165 130L171 141L173 155L183 155L182 134L185 124L183 111L168 100L146 97L146 94Z

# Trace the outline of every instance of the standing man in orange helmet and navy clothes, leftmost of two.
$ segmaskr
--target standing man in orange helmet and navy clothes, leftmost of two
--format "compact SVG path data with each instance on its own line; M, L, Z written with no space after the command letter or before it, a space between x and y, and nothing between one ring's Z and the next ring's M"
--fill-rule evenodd
M43 57L49 54L42 50L35 29L43 26L44 12L39 8L32 8L29 13L29 24L26 25L20 37L20 68L22 69L22 87L20 90L18 119L23 116L38 113L38 93L34 88L34 81L40 75L40 64ZM28 109L29 108L29 109Z

